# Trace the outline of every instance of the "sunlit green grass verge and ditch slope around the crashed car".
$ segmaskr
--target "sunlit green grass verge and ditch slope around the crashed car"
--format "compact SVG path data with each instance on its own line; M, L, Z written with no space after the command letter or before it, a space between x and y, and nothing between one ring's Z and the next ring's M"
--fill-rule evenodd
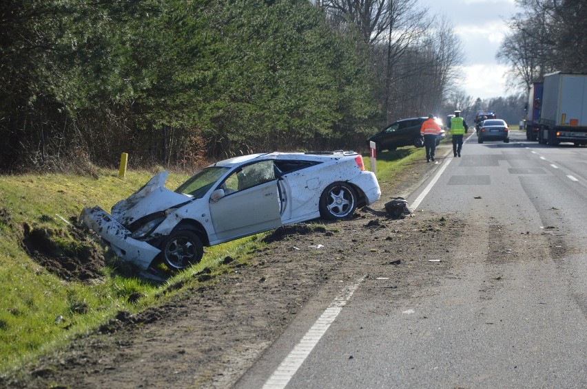
M380 153L377 175L382 189L423 153L422 148L413 147ZM369 168L369 155L364 162ZM0 176L0 375L10 375L23 363L96 331L120 311L143 311L183 293L185 287L214 282L215 274L229 271L223 264L227 256L246 264L251 247L263 244L260 237L264 234L260 234L207 247L202 263L169 274L164 282L145 280L125 270L99 241L76 230L75 220L85 206L110 210L154 173L131 171L125 179L114 170L101 170L96 177ZM176 188L186 178L172 173L166 186ZM32 245L33 236L42 237L43 244ZM42 265L48 257L65 263L87 252L94 253L90 259L99 259L98 278L68 279Z

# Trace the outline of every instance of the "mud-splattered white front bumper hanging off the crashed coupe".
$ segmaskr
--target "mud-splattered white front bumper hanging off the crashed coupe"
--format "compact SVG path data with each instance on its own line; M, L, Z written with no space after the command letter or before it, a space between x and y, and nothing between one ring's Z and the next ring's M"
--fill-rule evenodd
M96 232L116 255L141 269L147 269L161 252L147 242L131 238L129 230L98 206L83 208L79 220Z

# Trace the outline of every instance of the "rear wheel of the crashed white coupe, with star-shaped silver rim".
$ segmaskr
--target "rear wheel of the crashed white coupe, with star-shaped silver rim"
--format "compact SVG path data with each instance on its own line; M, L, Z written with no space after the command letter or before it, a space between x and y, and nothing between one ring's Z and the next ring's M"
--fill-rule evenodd
M357 199L357 193L349 184L330 184L320 195L320 216L328 220L345 219L355 212Z

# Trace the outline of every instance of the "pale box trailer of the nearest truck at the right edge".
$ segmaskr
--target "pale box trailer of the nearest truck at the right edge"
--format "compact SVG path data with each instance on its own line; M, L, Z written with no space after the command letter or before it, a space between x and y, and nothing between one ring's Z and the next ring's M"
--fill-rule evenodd
M587 144L587 74L546 74L542 85L538 142Z

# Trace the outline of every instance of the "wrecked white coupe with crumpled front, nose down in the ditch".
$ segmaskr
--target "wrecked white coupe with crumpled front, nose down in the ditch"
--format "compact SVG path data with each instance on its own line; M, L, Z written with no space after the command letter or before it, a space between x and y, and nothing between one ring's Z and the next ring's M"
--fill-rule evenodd
M80 221L141 269L158 261L184 269L200 261L204 246L318 217L344 219L381 195L353 151L226 159L175 191L165 188L167 175L155 175L110 214L84 208Z

